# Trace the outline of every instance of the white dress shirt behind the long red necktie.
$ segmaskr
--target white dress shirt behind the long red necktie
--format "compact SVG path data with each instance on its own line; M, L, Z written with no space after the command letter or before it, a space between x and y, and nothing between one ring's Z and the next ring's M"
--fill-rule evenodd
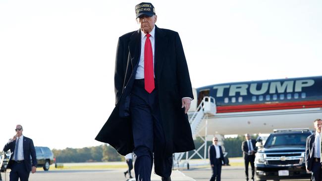
M153 70L154 70L154 47L155 47L155 30L156 26L153 27L152 31L149 33L151 35L150 37L150 41L151 41L151 45L152 45L152 55L153 55ZM136 70L136 74L135 74L135 79L144 79L144 45L145 45L145 41L147 39L147 34L145 34L142 30L141 30L141 54L140 54L140 59L139 59L139 66L138 69ZM153 75L155 71L153 71Z

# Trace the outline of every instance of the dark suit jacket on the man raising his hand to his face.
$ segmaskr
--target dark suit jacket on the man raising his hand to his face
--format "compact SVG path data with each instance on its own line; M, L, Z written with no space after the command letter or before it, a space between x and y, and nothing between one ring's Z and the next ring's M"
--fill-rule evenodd
M35 166L37 167L37 158L36 158L36 151L35 151L35 146L34 146L34 142L32 141L32 139L30 139L29 137L23 136L23 157L25 159L24 161L24 165L26 168L27 172L31 171L31 166ZM11 165L12 165L12 158L13 158L13 154L14 154L14 148L16 147L16 141L11 141L8 142L7 144L5 144L3 151L8 151L10 149L11 155L10 155L10 159L7 165L7 168L10 169ZM30 160L30 156L32 158L32 162Z

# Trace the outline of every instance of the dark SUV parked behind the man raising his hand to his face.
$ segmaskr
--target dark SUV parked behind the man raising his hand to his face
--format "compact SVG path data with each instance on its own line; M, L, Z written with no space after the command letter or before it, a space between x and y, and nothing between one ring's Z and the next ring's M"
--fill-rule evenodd
M45 171L49 170L49 166L55 161L54 154L49 147L35 146L37 167L43 167Z

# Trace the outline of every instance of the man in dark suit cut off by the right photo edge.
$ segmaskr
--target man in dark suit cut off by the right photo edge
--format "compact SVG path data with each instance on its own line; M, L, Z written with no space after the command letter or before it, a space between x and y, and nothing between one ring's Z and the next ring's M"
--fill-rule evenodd
M305 166L312 172L312 181L321 181L321 127L322 120L314 120L316 132L306 139Z

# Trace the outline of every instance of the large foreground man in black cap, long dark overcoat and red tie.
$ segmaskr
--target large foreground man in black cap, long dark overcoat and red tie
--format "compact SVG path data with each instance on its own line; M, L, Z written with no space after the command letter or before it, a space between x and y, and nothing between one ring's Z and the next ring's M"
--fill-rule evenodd
M137 181L155 173L170 181L172 153L195 149L187 117L193 99L183 47L177 32L155 25L154 6L135 6L139 30L118 39L115 108L96 140L120 154L134 152Z

